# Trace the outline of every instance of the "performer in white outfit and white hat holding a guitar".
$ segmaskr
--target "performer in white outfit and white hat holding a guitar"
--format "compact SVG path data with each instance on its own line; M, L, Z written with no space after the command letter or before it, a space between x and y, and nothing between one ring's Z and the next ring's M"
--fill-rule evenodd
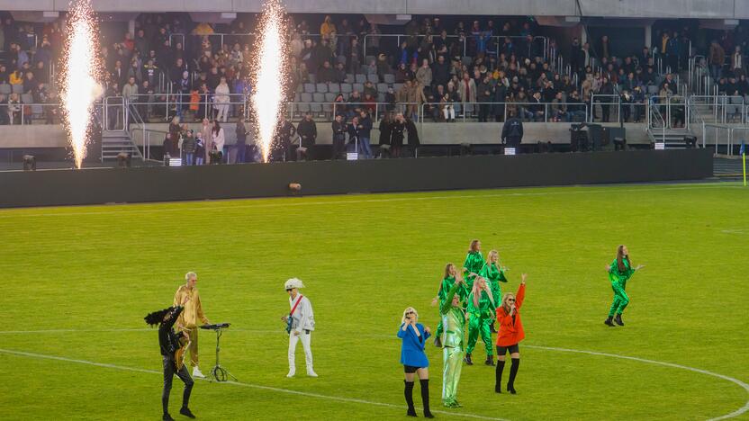
M301 280L292 278L284 283L286 292L289 293L290 316L281 318L284 322L289 322L291 317L291 329L289 331L289 373L286 377L293 377L296 374L296 365L294 364L294 352L296 344L302 340L304 348L304 359L307 365L307 375L317 377L312 369L312 350L310 348L311 332L315 330L315 318L312 313L312 303L307 297L299 293L300 288L304 288Z

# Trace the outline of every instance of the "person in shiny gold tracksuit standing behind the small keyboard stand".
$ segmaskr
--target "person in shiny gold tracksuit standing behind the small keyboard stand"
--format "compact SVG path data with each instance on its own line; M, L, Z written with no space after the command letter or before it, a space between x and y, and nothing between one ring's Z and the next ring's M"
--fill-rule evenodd
M193 365L193 377L204 378L205 376L198 367L197 321L200 320L205 325L210 325L211 322L203 314L203 304L200 302L200 295L196 287L198 275L194 272L188 272L185 274L185 281L185 285L181 285L176 290L174 305L182 305L185 302L185 297L189 297L189 300L185 303L185 310L177 318L176 326L190 337L188 351L190 351L190 363Z

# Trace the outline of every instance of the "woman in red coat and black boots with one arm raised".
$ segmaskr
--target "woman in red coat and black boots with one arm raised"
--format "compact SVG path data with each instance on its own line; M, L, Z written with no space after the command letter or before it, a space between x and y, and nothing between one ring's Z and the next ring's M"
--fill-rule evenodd
M507 391L513 395L515 391L515 376L518 375L520 365L520 349L518 344L526 337L523 332L523 323L520 321L520 306L523 305L523 299L526 296L526 273L522 274L522 282L518 288L518 293L508 292L502 297L501 306L497 308L497 323L500 325L500 332L497 334L497 371L494 391L501 393L502 371L504 370L504 357L510 351L512 365L510 365L510 380L507 381Z

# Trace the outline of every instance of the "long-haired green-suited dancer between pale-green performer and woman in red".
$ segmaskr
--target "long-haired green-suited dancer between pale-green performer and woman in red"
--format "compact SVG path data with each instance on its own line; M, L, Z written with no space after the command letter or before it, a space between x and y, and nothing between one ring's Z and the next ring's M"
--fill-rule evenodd
M494 365L494 350L490 326L494 321L496 304L492 289L481 276L474 279L474 287L468 296L468 345L465 347L465 363L474 365L471 354L474 352L479 336L486 348L486 365Z

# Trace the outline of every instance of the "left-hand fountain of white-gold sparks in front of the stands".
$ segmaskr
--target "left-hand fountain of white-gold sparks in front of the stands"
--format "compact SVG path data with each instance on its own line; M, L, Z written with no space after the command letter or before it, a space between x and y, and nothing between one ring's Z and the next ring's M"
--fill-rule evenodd
M90 0L72 1L68 11L65 58L60 73L60 98L63 121L77 168L81 167L86 157L94 101L101 94L97 33Z

